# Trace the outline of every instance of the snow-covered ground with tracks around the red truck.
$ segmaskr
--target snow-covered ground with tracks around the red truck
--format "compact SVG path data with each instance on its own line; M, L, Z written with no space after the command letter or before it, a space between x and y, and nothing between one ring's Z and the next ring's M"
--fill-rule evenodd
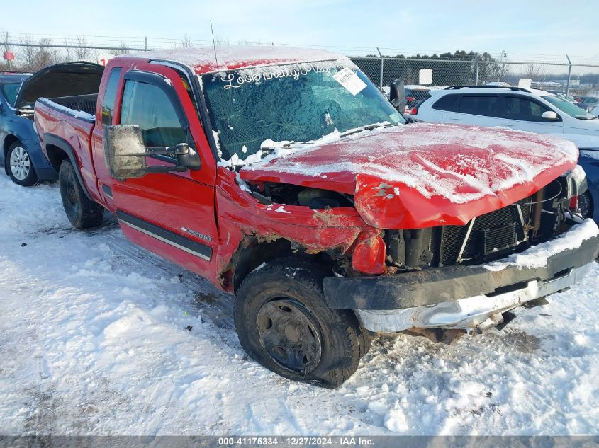
M248 359L232 298L113 220L74 231L56 185L0 191L0 433L599 433L599 265L504 331L376 340L330 391Z

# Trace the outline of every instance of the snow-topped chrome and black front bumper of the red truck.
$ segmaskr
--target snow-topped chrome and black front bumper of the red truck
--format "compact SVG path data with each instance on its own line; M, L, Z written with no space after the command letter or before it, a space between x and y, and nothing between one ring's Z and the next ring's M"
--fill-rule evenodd
M573 285L599 254L587 219L552 241L489 265L447 266L381 277L327 277L331 308L353 309L371 331L476 328L489 318Z

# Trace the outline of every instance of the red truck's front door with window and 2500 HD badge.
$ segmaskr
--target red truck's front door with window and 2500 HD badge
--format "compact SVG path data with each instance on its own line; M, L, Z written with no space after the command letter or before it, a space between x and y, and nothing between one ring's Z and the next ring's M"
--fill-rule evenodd
M214 265L218 242L215 160L189 83L169 67L137 64L125 72L119 91L114 122L138 125L146 147L189 144L201 158L201 168L149 173L137 179L111 178L108 187L118 222L135 243L206 275ZM174 163L174 156L169 155L147 159L148 166Z

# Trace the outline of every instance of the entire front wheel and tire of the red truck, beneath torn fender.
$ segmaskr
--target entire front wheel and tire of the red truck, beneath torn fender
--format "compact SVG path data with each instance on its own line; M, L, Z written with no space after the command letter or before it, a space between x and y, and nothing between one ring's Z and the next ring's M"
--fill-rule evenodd
M235 298L242 348L294 381L335 389L357 369L369 339L352 311L330 309L320 265L281 258L254 270Z

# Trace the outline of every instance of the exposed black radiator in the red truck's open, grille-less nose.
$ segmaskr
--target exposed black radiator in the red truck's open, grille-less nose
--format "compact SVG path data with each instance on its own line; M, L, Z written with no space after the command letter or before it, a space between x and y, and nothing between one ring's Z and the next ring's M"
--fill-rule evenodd
M530 224L532 199L526 197L513 205L494 212L483 214L474 220L468 241L461 255L462 260L491 258L510 251L519 241L525 239L525 229L520 222L517 205L522 210L522 219ZM466 226L443 226L441 263L457 263L460 248L468 232Z

